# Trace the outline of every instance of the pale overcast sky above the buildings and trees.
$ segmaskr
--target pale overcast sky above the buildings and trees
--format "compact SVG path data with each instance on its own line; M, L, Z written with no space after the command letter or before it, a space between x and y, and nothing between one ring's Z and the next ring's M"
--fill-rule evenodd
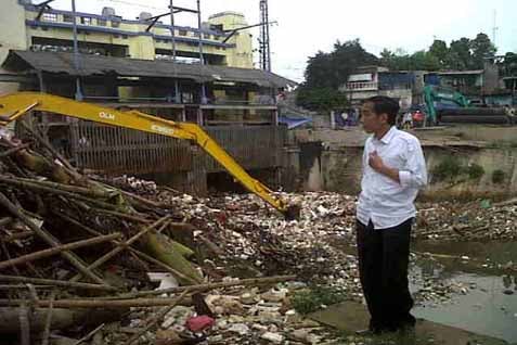
M38 3L42 0L34 0ZM169 0L76 0L77 10L100 13L103 7L115 8L125 18L140 12L167 11ZM70 0L56 0L53 8L69 10ZM195 0L175 0L175 5L194 8ZM460 37L474 38L487 33L499 53L517 51L517 1L514 0L269 0L272 65L280 75L303 79L308 56L319 50L331 51L336 40L359 38L375 54L383 48L402 48L408 52L426 49L435 38L450 42ZM222 11L246 15L249 24L259 23L259 0L202 0L203 18ZM165 20L164 20L165 21ZM195 26L192 14L181 14L178 25ZM259 29L251 31L255 38ZM256 56L258 62L258 56Z

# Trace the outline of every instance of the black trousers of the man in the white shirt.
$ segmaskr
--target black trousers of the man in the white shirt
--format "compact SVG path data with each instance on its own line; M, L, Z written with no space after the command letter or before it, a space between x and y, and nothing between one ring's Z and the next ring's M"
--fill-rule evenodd
M409 219L382 230L374 230L372 221L367 226L357 222L359 272L371 331L397 331L415 324L408 281L412 222Z

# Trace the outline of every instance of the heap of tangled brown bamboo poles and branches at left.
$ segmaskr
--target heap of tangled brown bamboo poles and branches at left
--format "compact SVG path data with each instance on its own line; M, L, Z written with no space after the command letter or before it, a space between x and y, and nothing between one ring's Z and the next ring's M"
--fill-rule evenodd
M28 143L5 130L0 137L2 340L14 334L20 344L35 337L49 344L74 335L75 344L104 343L103 334L122 334L124 343L139 343L179 305L197 312L184 323L193 336L214 323L202 292L295 279L209 283L194 264L195 228L173 204L79 174L36 132ZM152 280L160 282L158 291Z

